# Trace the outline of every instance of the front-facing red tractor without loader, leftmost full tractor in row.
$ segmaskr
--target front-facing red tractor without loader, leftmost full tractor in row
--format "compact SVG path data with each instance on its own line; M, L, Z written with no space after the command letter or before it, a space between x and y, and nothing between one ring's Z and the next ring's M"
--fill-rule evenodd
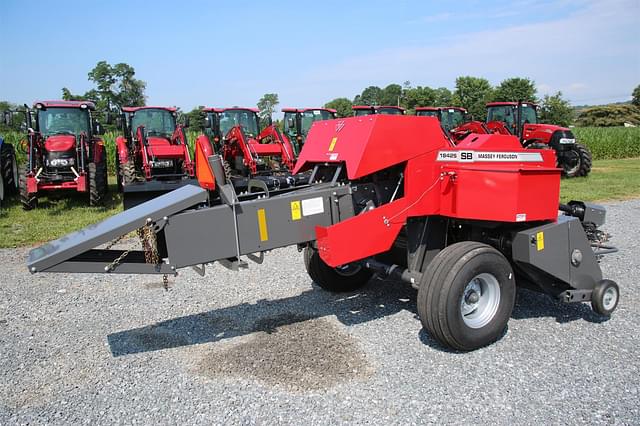
M35 117L25 105L27 163L20 171L20 201L25 210L48 191L73 190L89 195L92 206L107 192L107 154L95 105L88 101L38 101ZM35 125L34 125L35 123Z

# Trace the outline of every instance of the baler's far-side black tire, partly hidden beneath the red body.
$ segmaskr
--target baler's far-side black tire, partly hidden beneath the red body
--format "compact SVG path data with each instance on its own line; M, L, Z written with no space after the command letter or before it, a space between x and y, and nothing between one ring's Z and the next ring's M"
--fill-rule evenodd
M354 268L352 273L339 273L336 268L324 263L318 250L309 246L304 249L304 266L313 282L332 293L357 290L369 282L373 275L370 270L359 265L351 266Z

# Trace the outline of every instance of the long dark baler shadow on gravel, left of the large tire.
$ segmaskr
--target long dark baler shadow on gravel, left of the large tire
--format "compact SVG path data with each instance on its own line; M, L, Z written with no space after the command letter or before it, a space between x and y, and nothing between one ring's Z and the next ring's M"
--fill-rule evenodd
M259 300L187 315L146 327L109 334L113 356L216 342L335 315L345 325L360 324L400 311L416 314L416 291L402 283L373 279L360 291L331 294L319 289L277 300Z

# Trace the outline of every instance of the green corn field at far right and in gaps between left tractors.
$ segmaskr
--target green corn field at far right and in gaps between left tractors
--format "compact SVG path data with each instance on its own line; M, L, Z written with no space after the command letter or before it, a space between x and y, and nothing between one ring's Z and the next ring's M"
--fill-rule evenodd
M609 160L617 158L640 158L640 127L576 127L572 129L578 141L586 145L594 160ZM193 143L200 132L190 130L187 138L193 154ZM117 132L107 132L102 136L109 158L109 173L115 174L115 141ZM25 162L25 154L19 148L25 135L9 132L4 135L5 141L16 147L18 163Z

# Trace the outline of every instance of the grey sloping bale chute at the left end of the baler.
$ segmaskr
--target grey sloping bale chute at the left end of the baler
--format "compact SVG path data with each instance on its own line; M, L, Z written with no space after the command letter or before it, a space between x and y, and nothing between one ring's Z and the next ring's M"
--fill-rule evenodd
M92 250L131 231L135 231L152 222L161 221L164 217L179 213L190 207L205 203L208 199L206 190L186 185L170 193L161 195L151 201L140 204L129 210L105 219L95 225L51 241L29 252L27 266L31 272L104 272L105 262L115 260L122 250ZM166 265L146 264L143 252L131 252L134 259L140 262L122 265L120 273L172 273ZM113 257L113 259L111 259ZM70 266L75 265L75 268ZM81 267L78 267L81 265Z

